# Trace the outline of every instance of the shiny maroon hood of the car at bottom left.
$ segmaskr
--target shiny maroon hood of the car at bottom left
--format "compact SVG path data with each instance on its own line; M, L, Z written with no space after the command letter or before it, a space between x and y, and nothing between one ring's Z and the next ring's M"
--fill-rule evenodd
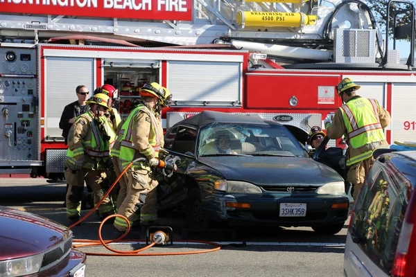
M72 235L44 217L0 206L0 260L42 253Z

